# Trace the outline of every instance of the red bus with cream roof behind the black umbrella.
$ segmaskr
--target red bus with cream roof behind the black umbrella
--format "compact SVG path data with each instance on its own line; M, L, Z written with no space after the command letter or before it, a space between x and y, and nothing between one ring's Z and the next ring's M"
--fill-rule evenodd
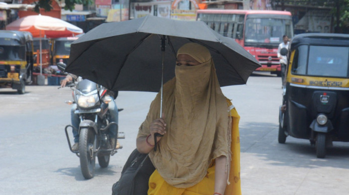
M293 37L291 12L276 10L199 9L197 20L219 34L231 37L262 65L257 71L280 76L277 57L282 36Z

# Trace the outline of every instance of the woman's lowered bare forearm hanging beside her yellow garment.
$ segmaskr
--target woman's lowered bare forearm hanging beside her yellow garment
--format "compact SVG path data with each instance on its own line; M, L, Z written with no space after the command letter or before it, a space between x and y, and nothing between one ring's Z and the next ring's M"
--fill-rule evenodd
M220 156L215 159L215 181L214 181L214 192L219 193L221 195L224 194L225 187L227 184L228 179L228 171L229 169L226 169L226 163L227 163L227 157L226 156ZM228 165L230 166L230 165Z

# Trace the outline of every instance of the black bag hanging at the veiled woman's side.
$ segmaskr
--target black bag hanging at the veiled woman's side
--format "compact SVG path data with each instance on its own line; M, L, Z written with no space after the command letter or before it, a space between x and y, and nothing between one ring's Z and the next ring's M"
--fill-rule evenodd
M135 149L127 159L119 181L113 184L112 195L147 195L149 178L154 171L148 154Z

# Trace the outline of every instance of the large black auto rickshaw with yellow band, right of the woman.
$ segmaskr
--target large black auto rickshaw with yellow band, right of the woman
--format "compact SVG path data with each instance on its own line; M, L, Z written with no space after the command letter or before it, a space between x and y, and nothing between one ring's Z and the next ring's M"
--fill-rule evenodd
M299 34L287 56L278 141L309 139L325 158L333 141L349 141L349 35Z

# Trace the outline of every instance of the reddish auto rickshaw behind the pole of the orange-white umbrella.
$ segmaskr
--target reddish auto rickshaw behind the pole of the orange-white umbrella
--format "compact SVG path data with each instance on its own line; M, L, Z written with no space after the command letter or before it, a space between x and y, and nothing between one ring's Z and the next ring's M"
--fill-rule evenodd
M40 72L40 39L41 39L41 66L42 69L47 68L51 63L51 44L50 39L48 38L33 38L33 58L34 58L34 72L39 73Z

